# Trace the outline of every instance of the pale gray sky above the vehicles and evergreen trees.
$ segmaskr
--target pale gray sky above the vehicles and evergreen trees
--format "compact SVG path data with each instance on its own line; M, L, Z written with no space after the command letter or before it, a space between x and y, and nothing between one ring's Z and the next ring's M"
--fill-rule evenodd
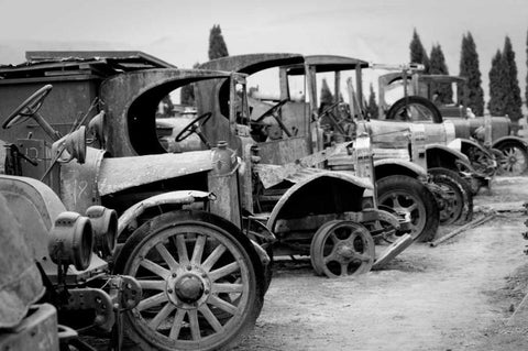
M483 89L494 53L509 35L526 86L526 0L0 0L0 64L28 50L140 50L178 67L207 61L220 24L231 55L336 54L375 63L409 61L416 28L428 53L440 44L459 73L462 34L476 43Z

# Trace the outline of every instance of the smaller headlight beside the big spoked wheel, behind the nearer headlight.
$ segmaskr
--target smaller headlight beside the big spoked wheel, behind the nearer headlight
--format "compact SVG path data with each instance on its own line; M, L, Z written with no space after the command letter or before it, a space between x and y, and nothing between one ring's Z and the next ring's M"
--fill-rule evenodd
M91 222L96 251L100 252L102 257L110 256L116 248L118 215L103 206L90 206L86 216Z

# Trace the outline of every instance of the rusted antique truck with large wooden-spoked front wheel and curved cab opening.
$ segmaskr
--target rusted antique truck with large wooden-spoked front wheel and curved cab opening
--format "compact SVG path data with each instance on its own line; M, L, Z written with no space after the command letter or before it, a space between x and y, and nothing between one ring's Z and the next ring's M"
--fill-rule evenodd
M66 64L86 65L85 69L97 73L120 59L129 58L96 59L97 67L86 59ZM166 96L183 83L239 76L147 67L116 72L113 78L105 76L72 89L62 84L79 85L78 72L68 76L58 69L66 79L53 74L56 67L64 68L64 62L29 64L15 70L25 69L28 75L29 67L51 72L36 79L2 79L0 94L9 97L3 103L14 103L11 94L20 96L28 84L42 85L50 76L61 89L54 95L52 86L45 85L14 110L12 105L0 107L0 111L13 110L2 124L9 131L1 134L8 142L7 173L43 179L68 210L85 212L103 205L118 212L111 268L136 279L143 293L135 307L122 312L128 339L141 349L157 350L217 350L235 344L261 311L270 261L242 231L237 191L240 163L224 144L167 153L155 131L161 99L152 102L153 95L154 99L158 94ZM84 106L86 100L91 102L85 113L69 120L61 106L48 105ZM47 122L45 111L61 113L64 122L57 123L56 114ZM54 127L65 129L64 123L68 132L63 136ZM42 133L45 140L34 136ZM258 235L273 239L262 230Z

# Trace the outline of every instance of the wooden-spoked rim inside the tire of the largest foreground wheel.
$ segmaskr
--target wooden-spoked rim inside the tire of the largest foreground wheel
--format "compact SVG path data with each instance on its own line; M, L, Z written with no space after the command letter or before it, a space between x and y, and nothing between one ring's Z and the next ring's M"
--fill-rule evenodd
M132 256L125 274L140 282L143 297L129 317L145 340L167 349L210 348L244 323L254 277L242 249L218 229L170 226Z

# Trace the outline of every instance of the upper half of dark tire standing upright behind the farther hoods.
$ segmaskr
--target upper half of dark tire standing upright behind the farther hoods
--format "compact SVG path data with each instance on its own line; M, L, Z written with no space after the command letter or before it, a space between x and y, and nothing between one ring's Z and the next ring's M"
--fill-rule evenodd
M414 107L415 112L421 112L420 116L410 117L408 107ZM432 121L435 123L442 123L443 118L440 110L430 100L419 97L409 96L402 98L391 106L385 116L387 120L418 122L418 121Z

